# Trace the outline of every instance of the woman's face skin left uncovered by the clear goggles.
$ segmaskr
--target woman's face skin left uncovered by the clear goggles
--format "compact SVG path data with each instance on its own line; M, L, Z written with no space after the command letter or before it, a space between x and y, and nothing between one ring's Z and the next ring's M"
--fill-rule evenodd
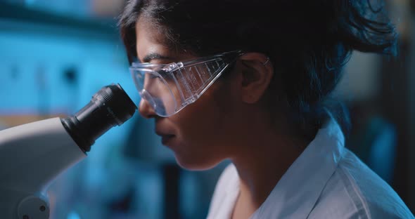
M196 58L190 53L177 53L163 45L163 34L146 19L136 23L136 51L140 62L166 64ZM231 73L231 72L229 72ZM146 100L139 112L155 119L155 132L162 144L173 150L180 166L189 169L212 168L231 157L232 138L238 131L238 98L229 79L217 80L196 102L171 117L158 117Z

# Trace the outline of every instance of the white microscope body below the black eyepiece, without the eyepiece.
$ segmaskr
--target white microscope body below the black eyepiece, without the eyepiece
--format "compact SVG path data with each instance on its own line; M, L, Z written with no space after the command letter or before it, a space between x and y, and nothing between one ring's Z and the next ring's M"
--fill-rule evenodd
M0 218L49 218L49 183L85 157L60 118L0 131Z

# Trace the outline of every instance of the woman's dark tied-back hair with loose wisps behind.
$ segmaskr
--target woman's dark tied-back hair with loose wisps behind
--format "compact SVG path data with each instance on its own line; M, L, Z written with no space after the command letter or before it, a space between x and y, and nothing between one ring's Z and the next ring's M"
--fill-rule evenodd
M282 80L293 123L314 136L326 112L343 132L347 110L329 98L353 50L396 53L397 32L369 0L131 0L120 15L129 62L136 58L136 20L149 18L172 49L212 55L253 51L269 56ZM272 85L271 85L272 86ZM330 101L329 101L330 100ZM334 102L334 104L333 104Z

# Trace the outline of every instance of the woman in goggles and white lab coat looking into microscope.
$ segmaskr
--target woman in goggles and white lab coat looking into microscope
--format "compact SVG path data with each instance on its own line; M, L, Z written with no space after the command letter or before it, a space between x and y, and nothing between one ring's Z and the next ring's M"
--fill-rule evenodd
M139 111L183 168L224 159L208 218L413 218L344 148L330 100L353 50L392 54L369 1L129 1L122 39Z

